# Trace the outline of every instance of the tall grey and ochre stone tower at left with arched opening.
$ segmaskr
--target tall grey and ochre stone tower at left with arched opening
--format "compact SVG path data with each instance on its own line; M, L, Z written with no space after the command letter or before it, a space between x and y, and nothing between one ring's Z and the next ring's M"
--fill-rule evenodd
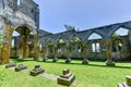
M38 28L39 9L33 0L0 0L0 64L10 62L14 49L19 58L27 58L32 53L37 59ZM19 44L12 48L14 32L20 36L15 39Z

